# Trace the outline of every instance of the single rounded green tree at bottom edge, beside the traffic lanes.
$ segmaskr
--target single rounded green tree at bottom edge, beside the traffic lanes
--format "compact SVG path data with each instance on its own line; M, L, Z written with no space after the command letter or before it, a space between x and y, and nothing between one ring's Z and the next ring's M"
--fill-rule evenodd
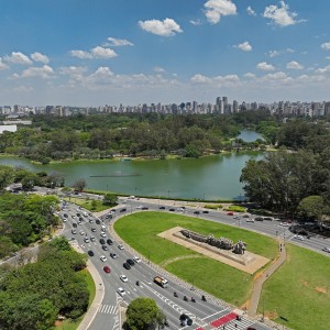
M155 330L157 326L163 327L164 321L164 314L154 299L140 297L128 307L127 324L130 330Z

